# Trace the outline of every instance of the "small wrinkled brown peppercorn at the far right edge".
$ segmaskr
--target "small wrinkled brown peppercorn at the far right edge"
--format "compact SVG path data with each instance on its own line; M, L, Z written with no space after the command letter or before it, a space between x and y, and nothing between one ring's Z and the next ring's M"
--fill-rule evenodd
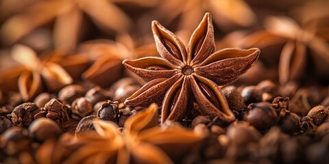
M312 120L313 124L319 126L328 116L328 109L326 109L323 105L318 105L310 109L307 116Z

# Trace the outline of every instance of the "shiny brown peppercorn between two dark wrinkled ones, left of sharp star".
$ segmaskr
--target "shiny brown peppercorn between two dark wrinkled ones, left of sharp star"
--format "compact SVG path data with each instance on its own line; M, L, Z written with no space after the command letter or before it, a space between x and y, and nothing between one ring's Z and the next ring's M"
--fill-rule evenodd
M76 98L72 102L72 118L81 120L93 112L93 105L85 97Z

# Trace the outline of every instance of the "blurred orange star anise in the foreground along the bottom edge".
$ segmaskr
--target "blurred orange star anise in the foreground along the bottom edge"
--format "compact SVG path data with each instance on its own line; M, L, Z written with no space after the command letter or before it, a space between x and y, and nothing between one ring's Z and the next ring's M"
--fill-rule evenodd
M97 135L82 133L69 141L46 142L38 150L38 163L173 163L204 138L181 126L158 126L158 106L133 115L123 132L113 122L95 120ZM175 147L173 147L175 145ZM64 150L57 151L57 150ZM67 158L66 158L67 156Z

